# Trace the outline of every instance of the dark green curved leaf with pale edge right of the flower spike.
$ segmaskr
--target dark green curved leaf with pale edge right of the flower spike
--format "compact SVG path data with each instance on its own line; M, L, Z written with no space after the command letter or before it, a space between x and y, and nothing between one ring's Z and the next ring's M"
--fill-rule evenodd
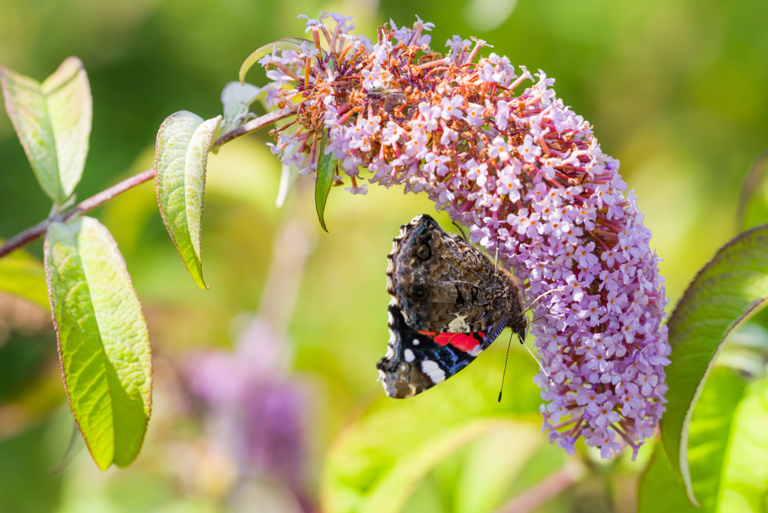
M696 499L687 458L690 415L724 337L768 296L766 254L766 225L731 240L700 270L667 323L672 353L661 435L691 501Z

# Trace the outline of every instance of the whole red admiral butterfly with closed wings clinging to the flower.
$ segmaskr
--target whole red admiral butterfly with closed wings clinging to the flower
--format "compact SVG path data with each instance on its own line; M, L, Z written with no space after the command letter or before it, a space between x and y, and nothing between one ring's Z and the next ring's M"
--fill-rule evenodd
M432 217L402 225L387 259L389 343L376 364L387 396L404 399L445 381L506 326L525 339L515 276Z

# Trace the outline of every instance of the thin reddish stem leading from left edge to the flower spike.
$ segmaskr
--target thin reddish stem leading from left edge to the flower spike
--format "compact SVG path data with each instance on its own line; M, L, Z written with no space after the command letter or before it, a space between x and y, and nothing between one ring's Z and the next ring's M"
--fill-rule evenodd
M227 144L229 141L232 141L241 135L250 134L250 132L257 131L260 128L266 127L266 125L272 124L275 121L279 121L283 119L283 117L288 117L291 114L296 114L296 109L292 107L286 107L280 109L280 111L273 111L264 114L261 117L257 117L256 119L248 121L246 124L240 125L240 127L235 128L233 131L229 131L227 134L223 134L217 139L216 142L214 142L210 149L214 150L220 147L222 144ZM118 196L118 194L123 194L126 190L132 189L137 185L144 184L144 182L147 180L153 179L154 175L154 167L152 169L142 171L141 173L136 174L130 178L126 178L119 184L114 184L112 187L102 190L98 194L94 194L94 196L89 197L87 200L81 201L81 203L69 210L66 210L65 212L48 217L48 219L42 220L35 224L34 227L27 228L22 233L18 233L14 237L6 240L5 243L0 246L0 258L5 257L5 255L11 253L12 251L18 250L20 247L26 246L28 243L38 240L40 237L45 235L45 230L48 230L48 227L51 226L51 223L64 223L72 216L93 210L94 208L106 203L108 200L111 200L113 197Z

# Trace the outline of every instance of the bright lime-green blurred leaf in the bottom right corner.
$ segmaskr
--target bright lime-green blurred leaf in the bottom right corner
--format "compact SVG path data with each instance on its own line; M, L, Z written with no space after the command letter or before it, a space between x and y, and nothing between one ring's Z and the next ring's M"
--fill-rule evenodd
M768 379L750 384L733 419L718 511L768 510Z

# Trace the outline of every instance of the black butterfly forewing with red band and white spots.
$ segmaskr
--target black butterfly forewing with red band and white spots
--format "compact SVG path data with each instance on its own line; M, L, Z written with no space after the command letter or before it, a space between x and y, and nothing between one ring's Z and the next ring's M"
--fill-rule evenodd
M417 331L408 326L399 306L390 303L387 352L376 364L386 395L405 399L449 379L493 338L484 333Z

